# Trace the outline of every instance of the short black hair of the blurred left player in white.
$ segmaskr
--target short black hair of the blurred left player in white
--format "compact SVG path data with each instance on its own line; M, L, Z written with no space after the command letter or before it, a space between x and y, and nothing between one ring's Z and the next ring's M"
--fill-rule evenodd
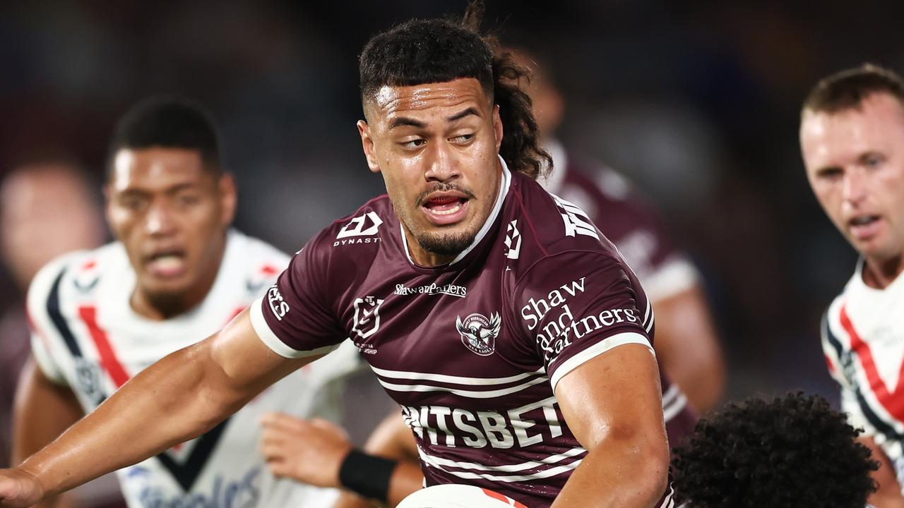
M190 99L157 96L138 102L119 119L110 141L108 174L119 150L184 148L201 154L204 169L221 173L220 139L210 113Z

